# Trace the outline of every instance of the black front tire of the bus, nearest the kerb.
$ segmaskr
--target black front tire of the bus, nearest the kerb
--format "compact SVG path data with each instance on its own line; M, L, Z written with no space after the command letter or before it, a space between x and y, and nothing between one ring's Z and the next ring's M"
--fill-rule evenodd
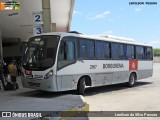
M78 82L77 92L79 95L84 95L84 91L85 91L85 78L83 77Z

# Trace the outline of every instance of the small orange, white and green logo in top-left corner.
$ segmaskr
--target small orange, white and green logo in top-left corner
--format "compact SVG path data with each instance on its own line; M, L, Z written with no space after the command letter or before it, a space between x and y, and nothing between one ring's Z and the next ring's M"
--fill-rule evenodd
M20 2L16 1L0 2L0 10L20 10Z

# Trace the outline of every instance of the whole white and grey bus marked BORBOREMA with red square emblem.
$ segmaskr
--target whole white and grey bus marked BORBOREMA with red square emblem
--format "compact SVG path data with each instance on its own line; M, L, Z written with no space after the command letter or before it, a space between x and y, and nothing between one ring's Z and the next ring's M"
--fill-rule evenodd
M151 77L152 47L120 37L45 33L29 39L22 85L43 91L77 90Z

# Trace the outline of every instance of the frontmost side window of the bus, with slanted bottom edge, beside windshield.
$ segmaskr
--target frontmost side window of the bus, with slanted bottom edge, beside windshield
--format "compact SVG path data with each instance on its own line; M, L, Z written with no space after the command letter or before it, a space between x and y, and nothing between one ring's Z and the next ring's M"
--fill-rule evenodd
M58 68L65 67L75 62L75 43L62 41L58 54Z

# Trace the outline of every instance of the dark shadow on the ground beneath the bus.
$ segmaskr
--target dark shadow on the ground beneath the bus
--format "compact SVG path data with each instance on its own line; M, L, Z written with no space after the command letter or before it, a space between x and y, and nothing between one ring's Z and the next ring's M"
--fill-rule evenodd
M152 82L137 82L136 86L132 88L137 88L137 87L141 87L148 84L152 84ZM93 87L93 88L87 88L85 90L84 96L92 96L99 93L106 93L106 92L118 91L123 89L132 89L132 88L126 87L124 83L116 84L116 85ZM23 97L35 97L35 98L56 98L56 97L68 95L68 94L77 95L77 92L76 90L64 91L64 92L45 92L40 90L32 90L28 92L20 92L14 95L23 96Z

